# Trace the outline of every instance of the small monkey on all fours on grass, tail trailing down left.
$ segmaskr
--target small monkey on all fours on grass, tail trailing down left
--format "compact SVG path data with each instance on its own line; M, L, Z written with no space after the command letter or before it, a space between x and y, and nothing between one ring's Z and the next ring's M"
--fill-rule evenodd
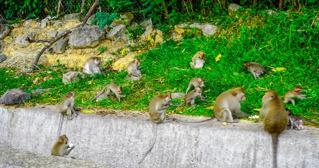
M107 89L107 92L103 93L104 89ZM116 95L116 97L119 99L119 101L121 101L121 97L125 97L126 95L121 95L122 93L122 87L116 85L115 83L110 83L108 85L106 85L93 99L91 99L90 101L94 100L96 98L96 102L104 99L105 97L109 97L112 95Z

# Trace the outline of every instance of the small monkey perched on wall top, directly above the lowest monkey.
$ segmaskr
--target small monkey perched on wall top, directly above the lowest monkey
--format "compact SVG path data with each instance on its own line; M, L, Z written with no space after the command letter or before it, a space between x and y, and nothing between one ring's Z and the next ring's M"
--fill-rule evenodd
M59 105L59 109L60 109L60 112L64 115L67 115L68 116L68 119L69 120L72 120L73 117L72 115L73 114L76 114L78 115L78 113L76 111L79 111L81 110L81 108L77 108L75 105L74 105L74 98L75 98L75 93L74 91L69 91L66 96L64 96L61 101L60 101L60 105ZM75 111L76 110L76 111ZM72 118L71 118L72 117Z

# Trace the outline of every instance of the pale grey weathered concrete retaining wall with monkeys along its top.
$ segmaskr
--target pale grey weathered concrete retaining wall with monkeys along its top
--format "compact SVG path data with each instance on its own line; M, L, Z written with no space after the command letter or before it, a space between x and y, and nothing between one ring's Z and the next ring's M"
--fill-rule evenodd
M42 108L43 107L43 108ZM242 121L223 126L163 123L149 147L152 123L147 114L83 114L68 121L56 106L0 107L0 146L49 154L58 135L75 145L70 152L81 160L123 167L272 167L271 136L261 123ZM133 117L135 114L137 117ZM172 116L170 116L172 117ZM173 116L182 120L198 120ZM319 130L284 131L279 136L278 167L319 167ZM1 159L1 158L0 158Z

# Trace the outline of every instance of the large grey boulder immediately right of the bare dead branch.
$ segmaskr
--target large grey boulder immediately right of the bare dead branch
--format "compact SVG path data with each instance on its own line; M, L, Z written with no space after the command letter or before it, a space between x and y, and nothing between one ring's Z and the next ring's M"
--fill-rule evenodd
M94 48L104 38L104 29L96 25L77 27L70 33L69 45L72 48Z

